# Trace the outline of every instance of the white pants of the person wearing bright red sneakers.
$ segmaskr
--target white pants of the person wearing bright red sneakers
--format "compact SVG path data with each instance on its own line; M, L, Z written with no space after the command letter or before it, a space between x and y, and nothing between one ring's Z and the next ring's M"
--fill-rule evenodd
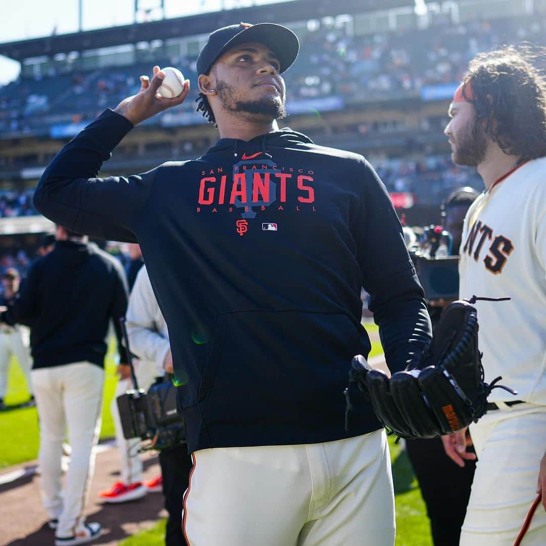
M136 381L140 389L148 390L153 383L155 376L155 365L139 360L135 363ZM133 379L120 379L116 385L116 393L114 400L110 405L112 420L114 420L114 428L116 431L116 443L121 457L121 481L124 484L130 485L143 480L143 465L138 452L140 438L131 438L126 440L123 437L123 429L121 428L120 412L117 408L117 397L126 393L127 390L133 389Z

